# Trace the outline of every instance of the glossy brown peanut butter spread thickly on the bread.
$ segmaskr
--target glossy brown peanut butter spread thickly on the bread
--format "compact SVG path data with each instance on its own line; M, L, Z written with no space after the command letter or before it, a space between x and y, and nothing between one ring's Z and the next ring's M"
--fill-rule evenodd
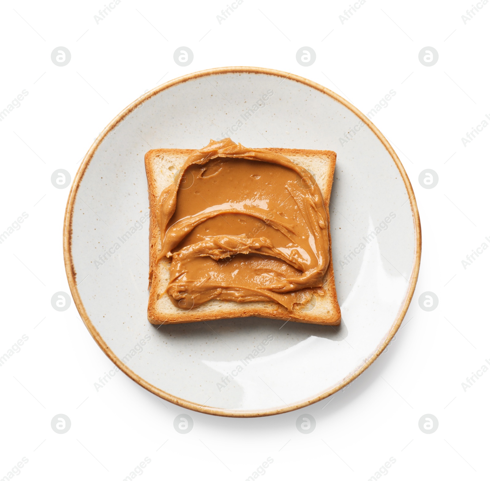
M189 309L210 299L274 301L292 311L323 295L327 214L313 176L231 139L194 152L159 199L166 289Z

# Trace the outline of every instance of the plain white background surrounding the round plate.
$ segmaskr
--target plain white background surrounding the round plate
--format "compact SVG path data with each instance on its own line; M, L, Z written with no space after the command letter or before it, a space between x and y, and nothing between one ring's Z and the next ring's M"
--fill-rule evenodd
M28 340L0 367L0 479L23 457L16 478L26 480L123 480L145 457L138 479L245 480L268 457L259 477L270 480L367 480L390 457L382 478L487 479L490 373L462 386L490 358L490 250L462 265L490 245L490 126L466 146L461 140L490 116L490 4L478 5L465 24L470 2L368 0L342 24L347 1L244 0L220 24L224 1L122 0L97 24L102 2L2 2L0 110L24 89L28 96L0 122L0 231L28 217L0 244L0 355ZM71 52L65 67L51 61L58 46ZM180 46L194 52L188 67L173 61ZM304 46L317 54L310 67L296 62ZM426 46L439 52L433 67L418 60ZM97 392L112 363L73 303L65 312L50 304L54 292L69 291L69 189L55 189L51 173L64 168L73 178L99 132L145 91L234 65L305 76L365 113L395 90L375 124L412 181L423 238L414 302L388 352L343 392L255 419L186 411L121 373ZM418 183L426 168L439 175L434 189ZM437 294L436 310L419 308L424 291ZM194 420L188 434L173 428L183 412ZM51 429L58 413L71 419L66 434ZM316 419L310 434L296 429L302 413ZM433 434L418 428L426 413L439 420Z

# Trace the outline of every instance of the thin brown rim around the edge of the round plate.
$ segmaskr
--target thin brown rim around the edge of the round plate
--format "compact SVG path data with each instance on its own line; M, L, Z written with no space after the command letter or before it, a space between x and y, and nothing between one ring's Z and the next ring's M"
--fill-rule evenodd
M110 132L114 126L116 126L123 118L129 114L132 110L137 108L139 105L141 105L143 102L145 102L148 98L151 96L154 96L158 94L159 92L166 90L173 85L187 82L188 80L192 80L194 78L199 78L199 77L205 77L207 75L216 75L216 74L224 74L224 73L258 73L258 74L268 74L268 75L275 75L278 77L284 77L284 78L289 78L291 80L294 80L296 82L300 82L304 85L307 85L311 88L314 88L318 90L319 92L322 92L323 94L326 94L338 102L342 103L345 107L347 107L351 112L353 112L357 117L359 117L361 120L363 120L368 127L374 132L374 134L378 137L380 142L385 146L385 148L388 150L390 155L392 156L393 162L395 163L396 167L400 171L400 174L402 176L403 182L405 183L405 187L407 189L407 192L409 194L409 199L410 199L410 205L412 207L412 215L414 218L414 224L415 224L415 231L416 231L416 245L417 245L417 250L415 253L414 257L414 265L412 269L412 273L410 276L410 284L409 288L407 289L406 295L405 295L405 302L401 306L398 315L392 325L392 328L386 337L385 341L379 346L378 350L376 353L364 363L363 366L361 366L357 371L355 371L351 376L348 378L344 379L343 382L337 386L335 386L332 389L329 389L321 394L319 394L317 397L301 402L299 404L295 404L293 406L288 406L285 408L281 409L272 409L272 410L264 410L264 411L237 411L237 410L227 410L227 409L221 409L221 408L213 408L209 406L201 406L196 403L186 401L185 399L178 398L176 396L173 396L172 394L165 392L158 387L151 385L148 383L146 380L138 376L135 372L133 372L131 369L129 369L123 362L114 354L114 352L109 348L109 346L106 344L104 339L100 336L98 333L97 329L95 326L92 324L92 321L90 320L89 316L87 315L87 312L85 311L85 307L83 305L83 302L81 300L80 294L77 289L76 285L76 272L74 270L74 266L72 263L72 255L71 255L71 247L72 247L72 219L73 219L73 206L74 206L74 201L75 201L75 196L76 192L78 190L78 186L80 184L81 179L83 178L83 174L85 173L85 170L87 166L90 164L90 161L92 160L92 157L94 153L96 152L98 146L100 143L104 140L105 136ZM420 255L421 255L421 250L422 250L422 237L421 237L421 230L420 230L420 217L418 214L418 208L417 208L417 202L415 200L415 193L412 188L412 184L410 183L410 180L407 176L407 173L405 172L405 169L403 168L403 165L400 162L400 159L396 155L395 151L393 150L392 146L389 144L389 142L386 140L386 138L383 136L383 134L376 128L376 126L371 122L371 120L368 119L360 110L358 110L356 107L354 107L350 102L345 100L343 97L339 96L335 92L332 92L331 90L327 89L326 87L323 87L322 85L313 82L312 80L308 80L304 77L301 77L299 75L295 75L293 73L288 73L288 72L281 72L279 70L272 70L272 69L266 69L266 68L261 68L261 67L220 67L220 68L215 68L215 69L209 69L209 70L203 70L200 72L194 72L190 73L188 75L184 75L178 78L175 78L165 84L159 85L158 87L155 87L153 90L147 92L147 94L139 97L136 99L134 102L129 104L120 114L118 114L108 125L105 127L105 129L99 134L97 139L94 141L90 149L88 150L87 154L83 158L83 162L80 164L80 167L78 168L76 175L73 179L73 184L70 189L70 194L68 196L68 202L66 205L66 210L65 210L65 220L63 224L63 256L64 256L64 261L65 261L65 270L68 278L68 284L70 286L70 290L72 292L73 296L73 301L76 305L76 308L78 309L78 312L80 313L83 322L85 323L85 326L87 327L88 331L94 337L95 341L98 343L100 349L106 354L106 356L116 364L119 369L121 369L124 374L126 374L128 377L130 377L133 381L147 389L148 391L152 392L153 394L156 394L157 396L161 397L162 399L165 399L173 404L176 404L178 406L182 406L183 408L187 409L192 409L198 412L203 412L206 414L214 414L218 416L229 416L229 417L258 417L258 416L270 416L272 414L280 414L283 412L289 412L293 411L295 409L300 409L304 408L305 406L309 406L313 403L316 403L322 399L325 399L326 397L334 394L335 392L339 391L343 387L345 387L347 384L352 382L354 379L356 379L360 374L362 374L372 363L375 359L378 358L378 356L383 352L385 347L391 342L393 336L395 335L396 331L400 327L403 318L405 317L405 313L408 310L408 307L410 305L410 301L412 300L412 296L414 294L415 286L417 284L417 277L418 277L418 271L420 268Z

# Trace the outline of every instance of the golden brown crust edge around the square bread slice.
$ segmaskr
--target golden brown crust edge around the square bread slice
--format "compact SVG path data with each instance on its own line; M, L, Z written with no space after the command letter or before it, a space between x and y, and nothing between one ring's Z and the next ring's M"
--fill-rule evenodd
M308 149L288 149L288 148L265 148L264 150L269 150L270 152L275 152L285 157L293 155L315 155L321 153L322 155L328 156L333 162L328 163L328 171L326 172L326 185L322 192L323 201L325 204L325 210L327 214L327 229L328 229L328 253L329 253L329 264L325 274L325 283L323 289L325 290L325 295L321 297L326 297L330 300L330 309L328 313L322 311L318 314L313 314L312 311L301 312L300 310L295 310L293 313L289 313L283 306L277 305L276 309L271 310L265 307L260 307L258 302L244 302L236 303L234 301L221 301L220 303L232 303L242 304L241 309L223 309L220 306L220 310L216 313L213 311L200 311L197 307L196 310L182 310L180 313L162 313L156 309L156 303L158 300L157 289L154 289L155 283L153 283L154 268L157 266L157 257L159 254L159 243L160 243L160 229L158 227L156 212L158 206L158 199L161 192L158 192L156 186L156 180L153 176L152 162L156 156L161 154L167 155L180 155L187 159L195 149L152 149L145 154L145 168L147 172L148 180L148 199L149 199L149 210L150 210L150 224L149 224L149 275L148 275L148 289L149 289L149 299L148 299L148 320L152 324L182 324L188 322L199 322L207 321L213 319L226 319L235 317L265 317L270 319L280 319L292 322L305 322L310 324L321 324L328 326L338 326L341 322L341 311L337 300L337 290L335 288L335 278L334 269L332 262L332 237L330 235L330 194L332 192L332 183L334 179L335 170L335 160L337 154L331 150L308 150ZM327 201L325 202L325 199ZM167 262L162 259L160 262ZM170 262L170 260L168 261ZM158 275L158 274L157 274ZM164 294L167 295L167 294ZM203 305L206 305L204 303ZM275 304L275 303L260 303L260 304ZM253 305L253 306L252 306Z

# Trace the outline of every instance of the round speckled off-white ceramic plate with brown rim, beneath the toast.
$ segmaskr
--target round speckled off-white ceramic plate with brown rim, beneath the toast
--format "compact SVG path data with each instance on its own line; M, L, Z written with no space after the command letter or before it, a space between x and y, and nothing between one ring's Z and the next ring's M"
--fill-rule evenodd
M337 152L330 216L341 326L148 322L145 152L228 136L248 147ZM415 289L420 225L405 170L360 111L304 78L234 67L161 85L106 127L74 179L64 253L80 315L129 377L186 408L260 416L329 396L382 352Z

